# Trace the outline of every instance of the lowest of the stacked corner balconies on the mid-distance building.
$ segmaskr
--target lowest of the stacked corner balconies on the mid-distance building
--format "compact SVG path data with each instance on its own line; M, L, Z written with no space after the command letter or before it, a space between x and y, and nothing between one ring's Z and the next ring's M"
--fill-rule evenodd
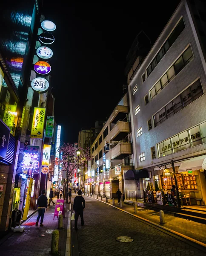
M131 142L119 142L111 149L111 160L120 160L132 154Z

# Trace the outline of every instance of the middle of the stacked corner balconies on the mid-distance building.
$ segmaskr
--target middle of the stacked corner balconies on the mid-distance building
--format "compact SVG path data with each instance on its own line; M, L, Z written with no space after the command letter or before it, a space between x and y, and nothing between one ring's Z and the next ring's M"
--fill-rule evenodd
M123 138L131 132L130 122L118 121L112 128L111 140L123 140Z

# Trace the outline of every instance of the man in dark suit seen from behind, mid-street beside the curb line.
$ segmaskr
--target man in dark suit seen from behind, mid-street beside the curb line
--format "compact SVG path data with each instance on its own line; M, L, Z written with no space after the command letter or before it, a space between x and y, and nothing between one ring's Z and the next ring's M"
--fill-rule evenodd
M84 218L83 218L83 212L84 212L84 208L85 208L85 200L82 196L82 192L81 190L79 190L77 192L78 196L76 196L74 198L74 205L73 205L73 209L75 212L75 217L74 217L74 228L75 230L77 230L77 221L79 218L79 215L81 217L81 224L82 226L84 225ZM82 205L83 203L83 205Z

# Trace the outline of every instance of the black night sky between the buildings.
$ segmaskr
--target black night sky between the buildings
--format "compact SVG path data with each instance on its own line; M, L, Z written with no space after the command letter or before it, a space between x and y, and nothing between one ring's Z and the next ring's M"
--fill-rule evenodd
M143 29L154 44L180 0L111 3L43 0L43 14L57 26L49 63L55 119L66 143L109 117L123 96L135 36Z

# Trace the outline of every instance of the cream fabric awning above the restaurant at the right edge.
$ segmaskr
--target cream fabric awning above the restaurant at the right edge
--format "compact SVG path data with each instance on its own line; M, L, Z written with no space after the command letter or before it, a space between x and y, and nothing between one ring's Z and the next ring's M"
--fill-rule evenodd
M190 160L180 164L178 172L188 172L206 169L206 155L192 157Z

